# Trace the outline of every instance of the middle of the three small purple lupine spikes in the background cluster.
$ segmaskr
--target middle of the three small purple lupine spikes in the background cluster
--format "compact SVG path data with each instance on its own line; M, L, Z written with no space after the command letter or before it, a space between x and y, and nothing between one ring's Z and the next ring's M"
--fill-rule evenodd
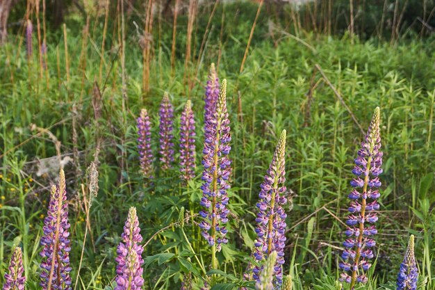
M171 163L174 162L174 143L172 143L172 122L174 118L174 108L169 99L169 95L165 92L160 105L160 161L162 170L171 168Z

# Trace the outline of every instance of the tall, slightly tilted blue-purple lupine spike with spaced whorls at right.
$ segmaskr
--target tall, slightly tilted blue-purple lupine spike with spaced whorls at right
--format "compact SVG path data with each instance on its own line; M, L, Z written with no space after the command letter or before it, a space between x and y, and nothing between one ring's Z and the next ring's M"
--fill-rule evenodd
M378 175L382 173L381 137L379 134L379 107L375 109L367 135L361 143L358 157L355 159L356 166L352 170L356 177L350 182L353 189L349 194L350 207L346 224L349 226L345 231L347 239L343 243L345 250L341 257L340 281L350 283L350 289L354 289L356 282L366 283L368 271L372 259L372 248L375 240L372 236L377 234L374 223L377 221L375 211L379 209L377 198L381 186ZM368 225L367 225L368 224ZM350 272L350 275L347 273Z

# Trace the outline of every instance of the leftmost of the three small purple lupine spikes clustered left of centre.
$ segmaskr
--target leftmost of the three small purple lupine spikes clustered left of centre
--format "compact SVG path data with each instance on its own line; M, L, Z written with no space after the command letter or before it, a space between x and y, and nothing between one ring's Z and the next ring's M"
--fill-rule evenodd
M149 122L146 108L142 108L140 111L137 126L140 169L146 178L152 179L153 153L151 152L151 122Z

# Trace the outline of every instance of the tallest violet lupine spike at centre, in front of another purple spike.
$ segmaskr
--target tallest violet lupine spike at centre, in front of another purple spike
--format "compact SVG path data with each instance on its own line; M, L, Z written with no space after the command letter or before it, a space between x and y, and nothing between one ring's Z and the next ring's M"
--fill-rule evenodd
M231 174L231 161L228 154L231 150L229 142L229 119L227 111L227 80L222 81L222 87L217 99L216 109L212 117L206 122L204 132L204 159L202 165L201 189L203 192L201 205L205 207L199 214L204 218L199 227L202 228L202 236L217 251L221 244L227 243L227 229L224 224L228 221L229 209L227 209L230 185L228 182ZM214 252L213 252L214 255ZM213 263L212 263L213 264ZM212 265L213 268L216 266Z

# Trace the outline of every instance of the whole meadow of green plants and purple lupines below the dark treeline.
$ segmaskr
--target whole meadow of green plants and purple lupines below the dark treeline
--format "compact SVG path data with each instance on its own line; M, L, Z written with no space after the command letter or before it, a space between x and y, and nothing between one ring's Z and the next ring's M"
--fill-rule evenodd
M435 289L433 33L391 43L287 29L264 10L256 17L255 3L213 7L189 5L177 30L172 17L123 6L72 13L57 29L33 11L10 33L0 47L0 284L15 253L28 290L281 289L279 265L284 290L350 289L340 263L364 141L382 159L381 185L363 187L379 187L377 234L367 282L354 289L397 289L411 235L418 286L402 289ZM268 186L286 202L259 200ZM275 220L285 228L265 229L285 237L272 246L274 286L258 202L285 212ZM221 223L214 245L208 217ZM120 244L136 252L122 256ZM63 261L46 255L56 247ZM143 282L122 286L136 270L120 256L137 259Z

